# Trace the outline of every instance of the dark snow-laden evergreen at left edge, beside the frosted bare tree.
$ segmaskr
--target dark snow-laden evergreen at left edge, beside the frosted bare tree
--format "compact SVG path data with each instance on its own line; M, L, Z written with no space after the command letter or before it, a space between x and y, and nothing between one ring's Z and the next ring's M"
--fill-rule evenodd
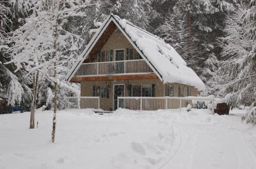
M26 74L24 69L17 72L15 65L5 63L10 61L6 48L8 42L6 37L8 33L16 29L22 24L17 17L26 17L30 7L29 1L1 1L0 2L0 93L8 97L8 104L10 106L22 105L29 107L27 104L31 102L32 92L30 89L31 79L28 77L24 79Z

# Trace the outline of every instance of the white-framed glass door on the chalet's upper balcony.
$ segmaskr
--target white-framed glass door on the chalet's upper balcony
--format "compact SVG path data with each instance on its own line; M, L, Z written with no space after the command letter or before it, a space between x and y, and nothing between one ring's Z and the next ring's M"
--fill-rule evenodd
M115 74L124 73L124 49L115 49Z

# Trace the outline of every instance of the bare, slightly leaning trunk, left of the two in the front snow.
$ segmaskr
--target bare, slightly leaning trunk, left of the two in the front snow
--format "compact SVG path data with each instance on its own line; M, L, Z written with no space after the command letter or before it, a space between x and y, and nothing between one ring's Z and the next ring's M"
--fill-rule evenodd
M33 100L30 110L30 125L29 128L35 128L35 109L36 109L36 96L37 96L37 86L38 86L39 71L33 75Z

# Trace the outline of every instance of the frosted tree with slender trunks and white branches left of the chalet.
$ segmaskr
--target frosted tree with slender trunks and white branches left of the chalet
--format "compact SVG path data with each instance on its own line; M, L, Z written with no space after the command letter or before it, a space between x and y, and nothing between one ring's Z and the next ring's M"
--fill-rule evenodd
M65 30L68 19L84 16L90 2L83 1L34 1L33 14L26 23L12 33L14 45L8 50L17 70L26 67L34 74L34 98L36 98L38 72L54 83L54 107L52 142L55 139L58 73L68 69L67 62L74 62L82 39ZM34 99L35 100L35 99ZM32 106L34 105L34 101ZM35 106L34 106L35 107ZM33 111L33 109L31 109ZM31 112L32 114L32 112ZM33 121L33 115L31 115Z

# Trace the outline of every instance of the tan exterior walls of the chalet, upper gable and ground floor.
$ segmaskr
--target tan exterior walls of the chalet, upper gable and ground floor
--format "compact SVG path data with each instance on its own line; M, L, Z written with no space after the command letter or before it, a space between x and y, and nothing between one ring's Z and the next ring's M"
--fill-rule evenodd
M126 60L126 48L133 48L132 44L125 38L120 31L114 31L108 41L103 45L101 51L112 49L124 49L124 60ZM115 52L113 53L115 61ZM98 62L97 57L93 62ZM114 109L114 85L124 85L124 96L129 96L129 85L150 85L155 84L156 97L165 96L165 85L160 79L136 79L136 80L98 80L81 81L81 96L93 96L93 86L108 86L109 98L100 98L100 108L103 110ZM169 83L174 86L174 96L178 97L179 86L190 87L180 83ZM187 90L184 88L184 97L187 96ZM197 96L197 89L191 87L191 96Z

